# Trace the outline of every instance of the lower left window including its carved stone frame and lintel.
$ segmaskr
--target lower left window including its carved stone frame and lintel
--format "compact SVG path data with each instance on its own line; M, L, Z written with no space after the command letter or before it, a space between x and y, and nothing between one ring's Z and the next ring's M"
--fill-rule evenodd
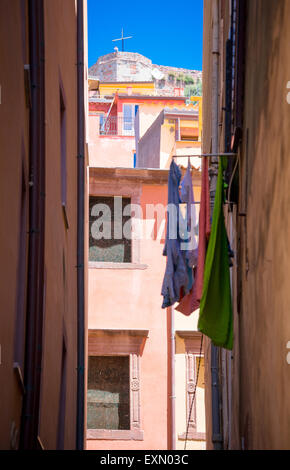
M141 355L148 330L89 330L87 439L143 440Z

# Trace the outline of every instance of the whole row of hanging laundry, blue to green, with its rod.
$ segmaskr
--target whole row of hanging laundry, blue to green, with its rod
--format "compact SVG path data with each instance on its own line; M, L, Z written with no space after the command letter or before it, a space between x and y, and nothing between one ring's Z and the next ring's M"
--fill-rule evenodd
M234 153L201 154L202 156L235 156ZM195 157L197 155L194 155ZM179 156L177 156L179 157ZM226 161L219 159L215 202L210 222L209 161L202 162L201 204L199 211L198 245L195 238L197 214L188 210L195 204L192 165L190 156L185 175L172 158L168 175L168 205L173 204L176 211L168 211L166 240L163 255L167 257L162 283L162 308L178 303L175 308L183 315L190 315L199 309L198 330L208 336L213 344L225 349L233 348L233 310L231 301L230 259L232 250L229 245L224 220L223 172ZM180 204L187 204L187 232L180 232ZM173 217L173 214L175 216ZM172 228L174 231L172 232ZM184 228L182 228L184 230ZM174 233L174 237L170 236ZM189 242L183 246L183 233L188 233ZM191 242L195 242L192 246Z

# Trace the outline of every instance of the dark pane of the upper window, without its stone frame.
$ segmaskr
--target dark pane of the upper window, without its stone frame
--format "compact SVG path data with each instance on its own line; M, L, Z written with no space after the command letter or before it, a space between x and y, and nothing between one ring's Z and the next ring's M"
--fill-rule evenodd
M90 196L89 261L131 263L130 204L128 197Z

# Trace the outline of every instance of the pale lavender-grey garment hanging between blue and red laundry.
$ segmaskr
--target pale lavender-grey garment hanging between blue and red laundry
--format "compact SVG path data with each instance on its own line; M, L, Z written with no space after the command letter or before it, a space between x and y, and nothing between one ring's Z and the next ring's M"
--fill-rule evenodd
M184 243L181 245L181 248L186 247L187 265L189 268L192 268L197 264L198 243L195 236L197 221L190 167L190 160L188 159L188 166L181 183L180 191L181 202L187 205L185 221L185 230L187 231L187 236L183 237Z

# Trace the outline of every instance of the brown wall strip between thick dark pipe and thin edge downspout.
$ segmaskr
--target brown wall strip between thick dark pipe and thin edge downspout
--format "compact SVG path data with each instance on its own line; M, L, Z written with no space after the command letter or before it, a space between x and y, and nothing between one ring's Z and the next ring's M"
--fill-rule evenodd
M56 445L63 335L67 338L66 448L74 447L76 429L77 272L73 269L77 249L76 26L74 2L45 2L46 321L39 435L45 448L50 449ZM68 230L64 224L60 197L60 77L66 99ZM48 402L54 403L54 406L46 406Z

